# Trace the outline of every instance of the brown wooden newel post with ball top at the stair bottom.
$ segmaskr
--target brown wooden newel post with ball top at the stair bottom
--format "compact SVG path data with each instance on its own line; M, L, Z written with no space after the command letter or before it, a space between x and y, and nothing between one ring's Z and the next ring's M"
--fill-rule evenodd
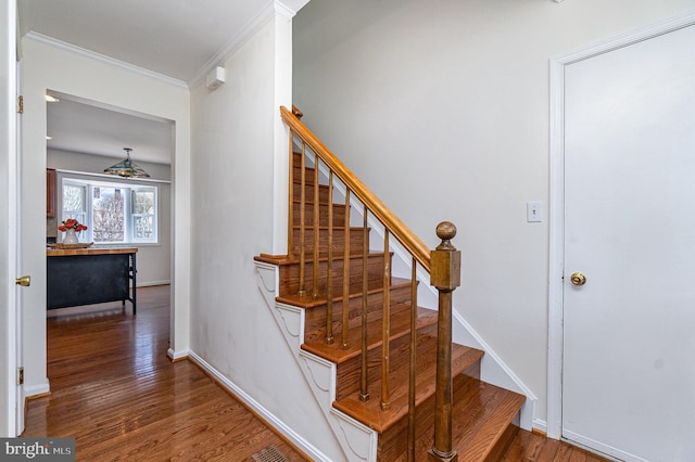
M439 316L437 325L437 393L434 396L434 445L429 460L437 462L458 461L452 448L452 297L460 285L460 252L451 243L456 227L450 221L437 226L441 244L431 252L430 285L439 291Z

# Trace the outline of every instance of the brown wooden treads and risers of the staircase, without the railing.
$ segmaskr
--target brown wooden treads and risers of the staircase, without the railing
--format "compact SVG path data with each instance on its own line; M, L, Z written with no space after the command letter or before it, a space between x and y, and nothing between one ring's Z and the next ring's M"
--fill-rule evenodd
M296 149L296 147L295 147ZM320 162L309 155L302 166L304 151L293 152L290 207L292 246L288 252L295 254L267 255L262 254L254 259L279 267L280 290L276 301L303 308L304 343L301 348L336 364L336 401L332 406L356 421L374 428L379 433L379 460L405 460L405 445L407 442L408 414L408 351L410 342L410 298L409 279L391 278L387 287L383 282L383 271L391 274L391 258L393 253L384 254L369 249L369 229L345 227L345 216L350 213L350 205L336 203L330 194L330 188L323 184L321 171L317 168ZM318 165L314 165L318 164ZM304 170L302 170L302 167ZM323 167L321 167L323 168ZM318 174L318 175L317 175ZM302 181L302 177L304 181ZM329 204L332 202L332 204ZM302 205L306 206L302 214ZM330 207L333 208L329 214ZM299 210L299 211L298 211ZM330 215L330 216L329 216ZM300 221L304 217L305 242L300 245ZM330 219L329 219L330 218ZM336 266L328 271L328 230L329 222L334 231L331 245L332 261ZM316 232L316 241L314 240ZM350 255L345 260L344 248L350 245ZM299 252L304 249L304 255ZM367 248L364 258L362 249ZM314 260L317 251L318 259ZM387 266L378 259L387 259ZM364 261L363 261L364 259ZM300 270L300 261L306 265L306 271ZM350 265L349 265L350 264ZM365 267L362 267L365 265ZM362 401L358 397L361 360L362 358L362 297L365 287L362 273L367 271L367 363L370 399ZM312 271L319 271L319 290L316 296L312 294ZM346 280L342 278L346 275ZM343 296L343 285L336 284L342 280L349 284L348 294ZM330 282L328 282L330 281ZM348 282L349 281L349 282ZM332 306L327 309L327 284L332 284ZM299 287L306 287L306 294L295 294ZM384 290L389 291L390 311L390 355L389 371L390 406L381 410L381 347L383 313L380 307L384 299ZM345 300L344 297L348 297ZM343 318L341 311L346 301L348 313ZM437 318L434 310L417 308L417 371L416 371L416 460L426 460L427 450L433 442L434 394L437 383ZM346 321L345 321L346 319ZM330 322L329 328L326 322ZM342 324L348 323L348 345L342 346ZM334 342L326 344L327 330L332 326ZM506 389L481 382L480 359L483 351L462 345L452 345L452 374L454 376L452 403L453 416L453 448L458 453L460 462L497 460L507 447L509 435L514 435L517 427L513 421L518 415L525 397ZM404 439L405 438L405 439Z

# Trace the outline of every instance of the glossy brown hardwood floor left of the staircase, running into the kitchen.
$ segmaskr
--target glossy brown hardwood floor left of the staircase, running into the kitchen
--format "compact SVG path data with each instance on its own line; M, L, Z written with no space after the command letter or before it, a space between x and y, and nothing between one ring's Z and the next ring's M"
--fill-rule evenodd
M48 312L51 395L27 401L26 437L74 437L78 461L306 460L190 361L167 357L169 286Z

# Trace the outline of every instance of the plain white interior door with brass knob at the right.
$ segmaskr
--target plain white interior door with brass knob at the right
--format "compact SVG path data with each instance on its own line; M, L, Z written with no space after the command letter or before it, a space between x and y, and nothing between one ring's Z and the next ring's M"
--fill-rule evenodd
M563 436L695 461L695 26L569 64L565 91Z

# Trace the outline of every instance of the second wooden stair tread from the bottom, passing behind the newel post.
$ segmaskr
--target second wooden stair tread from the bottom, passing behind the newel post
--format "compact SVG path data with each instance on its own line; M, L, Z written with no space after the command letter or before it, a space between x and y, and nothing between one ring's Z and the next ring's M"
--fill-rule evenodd
M478 362L482 356L483 352L478 349L454 344L452 349L452 374L460 374ZM351 396L340 401L334 401L333 407L382 434L405 418L408 412L407 377L409 371L407 368L402 368L392 372L394 372L396 378L391 378L392 389L389 410L381 409L380 398L378 397L381 390L380 378L370 383L369 389L372 390L372 397L367 401L362 401L358 396ZM435 377L435 361L428 363L425 368L418 368L415 393L416 406L433 396Z

